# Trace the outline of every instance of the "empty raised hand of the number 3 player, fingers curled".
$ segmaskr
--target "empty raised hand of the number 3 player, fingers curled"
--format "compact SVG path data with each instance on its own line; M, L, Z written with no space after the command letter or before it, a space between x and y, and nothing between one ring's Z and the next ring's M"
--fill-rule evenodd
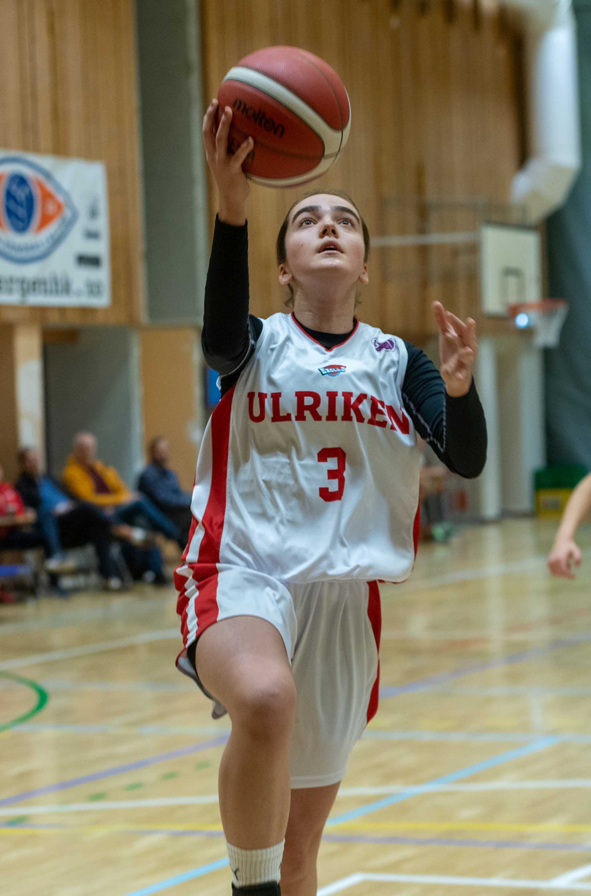
M448 395L466 395L472 383L472 368L478 354L476 322L467 322L451 314L441 302L433 302L433 315L439 327L440 373Z

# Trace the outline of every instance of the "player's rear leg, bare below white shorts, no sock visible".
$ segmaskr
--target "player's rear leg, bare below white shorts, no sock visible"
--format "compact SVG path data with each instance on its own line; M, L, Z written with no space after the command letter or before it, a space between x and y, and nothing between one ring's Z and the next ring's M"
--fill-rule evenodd
M291 791L286 845L281 865L282 896L316 896L316 860L322 831L340 781L329 787Z

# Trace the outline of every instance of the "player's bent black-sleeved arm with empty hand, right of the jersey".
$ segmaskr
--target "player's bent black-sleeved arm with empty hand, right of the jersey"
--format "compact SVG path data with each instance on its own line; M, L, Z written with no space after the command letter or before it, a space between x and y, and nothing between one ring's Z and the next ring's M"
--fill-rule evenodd
M407 342L402 386L415 429L453 473L475 478L486 461L486 422L472 376L477 354L475 323L463 323L440 303L433 308L440 328L441 372L421 349Z

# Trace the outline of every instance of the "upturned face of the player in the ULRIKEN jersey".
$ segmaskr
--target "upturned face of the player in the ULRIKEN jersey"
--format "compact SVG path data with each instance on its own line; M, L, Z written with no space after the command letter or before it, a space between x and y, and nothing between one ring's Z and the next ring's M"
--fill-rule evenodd
M282 283L317 274L367 282L359 212L340 196L321 193L298 202L290 215L286 250L287 263L279 268Z

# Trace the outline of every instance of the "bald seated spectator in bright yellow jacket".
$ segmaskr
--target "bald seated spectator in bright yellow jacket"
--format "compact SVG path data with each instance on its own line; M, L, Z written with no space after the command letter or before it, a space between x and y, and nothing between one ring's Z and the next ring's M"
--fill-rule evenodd
M151 532L160 532L172 538L184 549L181 530L158 510L145 495L130 492L113 467L107 467L97 460L97 440L90 433L78 433L74 436L73 451L67 460L63 474L64 486L83 501L96 504L103 513L115 523L127 523L142 526ZM153 572L155 552L152 549L152 560L149 572ZM154 579L157 585L167 584L162 572L161 558L158 573Z

